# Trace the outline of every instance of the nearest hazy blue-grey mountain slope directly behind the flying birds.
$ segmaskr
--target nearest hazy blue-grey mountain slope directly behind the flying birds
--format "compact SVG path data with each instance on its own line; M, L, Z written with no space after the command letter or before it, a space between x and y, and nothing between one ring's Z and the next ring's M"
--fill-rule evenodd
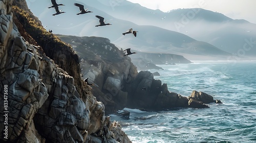
M138 26L127 20L120 20L105 13L104 5L98 7L89 7L84 3L85 8L93 11L84 15L76 15L79 9L74 6L74 2L63 2L66 6L60 6L59 9L67 13L52 16L55 13L54 9L48 9L49 3L40 2L42 4L39 10L43 11L39 16L42 23L47 26L47 29L53 30L53 33L76 36L97 36L110 39L117 46L126 48L131 47L134 50L150 53L169 53L169 54L188 54L202 56L227 56L225 53L215 46L205 42L197 41L184 34L169 31L155 26ZM98 3L98 1L90 2L90 4ZM106 3L106 2L105 2ZM124 3L126 3L124 1ZM89 3L88 3L89 4ZM108 3L106 3L108 4ZM132 3L130 3L132 4ZM37 4L38 5L38 4ZM136 7L140 7L136 5ZM110 7L111 8L111 7ZM116 8L116 7L115 7ZM101 10L103 11L101 11ZM124 9L125 11L125 9ZM106 22L112 23L111 26L95 27L99 20L95 15L105 17ZM133 28L138 32L135 38L132 34L123 36L122 33Z

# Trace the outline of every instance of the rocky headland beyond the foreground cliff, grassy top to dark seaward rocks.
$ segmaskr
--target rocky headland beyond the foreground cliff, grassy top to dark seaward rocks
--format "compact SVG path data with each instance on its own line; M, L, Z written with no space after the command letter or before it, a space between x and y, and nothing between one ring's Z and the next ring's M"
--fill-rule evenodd
M58 36L77 51L81 61L82 77L97 85L92 86L92 91L105 105L106 113L116 113L124 107L146 110L174 107L208 108L205 105L208 102L201 102L199 98L188 99L178 93L169 92L167 84L155 80L150 71L138 73L131 58L123 57L122 50L120 51L109 39Z

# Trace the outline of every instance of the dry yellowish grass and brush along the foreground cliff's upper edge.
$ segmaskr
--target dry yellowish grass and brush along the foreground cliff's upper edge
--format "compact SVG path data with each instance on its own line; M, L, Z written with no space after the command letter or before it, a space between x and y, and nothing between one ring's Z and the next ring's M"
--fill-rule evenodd
M23 25L23 28L26 30L26 32L29 33L39 45L45 46L43 47L43 49L48 57L52 57L52 52L56 47L68 47L68 49L75 53L70 45L67 45L65 42L62 42L57 36L48 32L41 25L41 23L36 22L36 20L32 18L32 16L28 12L20 9L17 6L13 6L12 9L19 22ZM51 52L49 53L49 51Z

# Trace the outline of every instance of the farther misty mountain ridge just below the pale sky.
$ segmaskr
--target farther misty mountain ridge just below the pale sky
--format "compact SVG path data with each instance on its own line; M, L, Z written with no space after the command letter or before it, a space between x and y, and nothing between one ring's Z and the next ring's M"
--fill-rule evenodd
M88 5L100 7L101 10L116 18L133 21L137 25L153 25L181 32L229 53L237 54L243 49L243 45L246 43L245 39L256 41L256 25L254 23L243 19L234 20L218 12L195 8L177 9L165 13L127 1L115 4L102 0L90 0L89 2ZM165 18L162 19L163 17ZM250 50L246 51L246 56L255 57L255 55L255 47L251 46Z

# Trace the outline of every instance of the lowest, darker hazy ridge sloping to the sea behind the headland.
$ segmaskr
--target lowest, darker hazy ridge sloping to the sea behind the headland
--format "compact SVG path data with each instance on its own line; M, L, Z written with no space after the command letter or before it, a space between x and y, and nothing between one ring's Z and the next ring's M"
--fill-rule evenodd
M226 52L206 42L197 41L184 34L153 26L138 26L138 36L121 36L116 45L150 53L190 54L204 56L227 56ZM188 58L188 57L187 57ZM189 59L189 58L188 58Z

